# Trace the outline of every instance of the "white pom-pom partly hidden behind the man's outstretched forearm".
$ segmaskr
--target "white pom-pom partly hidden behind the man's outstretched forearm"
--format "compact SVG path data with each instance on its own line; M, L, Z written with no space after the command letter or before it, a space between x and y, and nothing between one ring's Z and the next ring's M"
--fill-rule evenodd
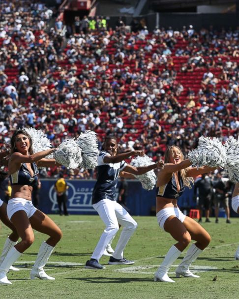
M154 164L154 162L152 162L152 159L149 158L149 156L143 156L143 157L137 156L135 159L132 159L130 162L130 165L134 167L149 166L152 164ZM152 190L156 184L156 175L153 170L150 170L149 172L143 175L139 175L139 176L134 175L134 177L140 180L143 188L146 190Z

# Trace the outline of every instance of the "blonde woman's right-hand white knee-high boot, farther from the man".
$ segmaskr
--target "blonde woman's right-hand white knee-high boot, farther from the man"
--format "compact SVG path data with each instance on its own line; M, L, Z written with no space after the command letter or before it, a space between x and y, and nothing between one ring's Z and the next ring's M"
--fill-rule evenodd
M200 276L193 274L190 270L189 270L189 266L192 264L192 262L194 262L197 257L200 255L200 253L203 250L199 249L195 244L192 244L184 259L182 260L181 264L179 265L179 267L175 270L176 272L176 277L184 276L184 277L192 277L192 278L199 278Z

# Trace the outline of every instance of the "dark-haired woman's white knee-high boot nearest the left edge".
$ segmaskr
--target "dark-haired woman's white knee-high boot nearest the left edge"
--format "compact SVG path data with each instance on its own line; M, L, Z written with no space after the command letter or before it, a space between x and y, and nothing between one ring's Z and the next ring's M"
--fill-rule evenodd
M16 260L21 256L21 252L17 251L15 247L12 247L6 254L3 262L0 266L0 284L12 284L6 276L9 267L16 262Z

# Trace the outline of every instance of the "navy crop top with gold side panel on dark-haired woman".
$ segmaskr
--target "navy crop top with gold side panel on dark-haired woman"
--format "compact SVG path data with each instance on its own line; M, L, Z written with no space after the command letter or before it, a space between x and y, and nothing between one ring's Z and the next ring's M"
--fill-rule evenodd
M31 163L31 168L33 170L33 177L31 177L30 172L25 163L21 164L19 170L14 174L10 175L11 186L14 185L28 185L33 186L37 182L37 175L39 174L36 163Z

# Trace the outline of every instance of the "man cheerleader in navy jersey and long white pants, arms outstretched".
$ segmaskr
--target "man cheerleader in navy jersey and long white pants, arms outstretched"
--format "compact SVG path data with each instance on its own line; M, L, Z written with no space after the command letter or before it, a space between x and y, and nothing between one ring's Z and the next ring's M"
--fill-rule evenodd
M131 156L144 156L143 150L133 150L117 154L117 141L114 137L106 138L104 150L99 153L97 166L97 181L92 193L92 205L98 212L105 224L105 230L101 235L94 252L89 261L86 262L85 268L88 269L105 269L99 263L100 258L105 252L109 242L119 231L119 224L122 226L120 239L116 249L108 262L109 265L132 265L134 261L127 260L123 256L123 250L130 237L137 228L136 221L120 204L117 203L116 187L119 175L125 178L132 178L133 175L145 174L161 163L153 163L144 167L134 167L127 164L124 160ZM134 178L134 177L133 177Z

